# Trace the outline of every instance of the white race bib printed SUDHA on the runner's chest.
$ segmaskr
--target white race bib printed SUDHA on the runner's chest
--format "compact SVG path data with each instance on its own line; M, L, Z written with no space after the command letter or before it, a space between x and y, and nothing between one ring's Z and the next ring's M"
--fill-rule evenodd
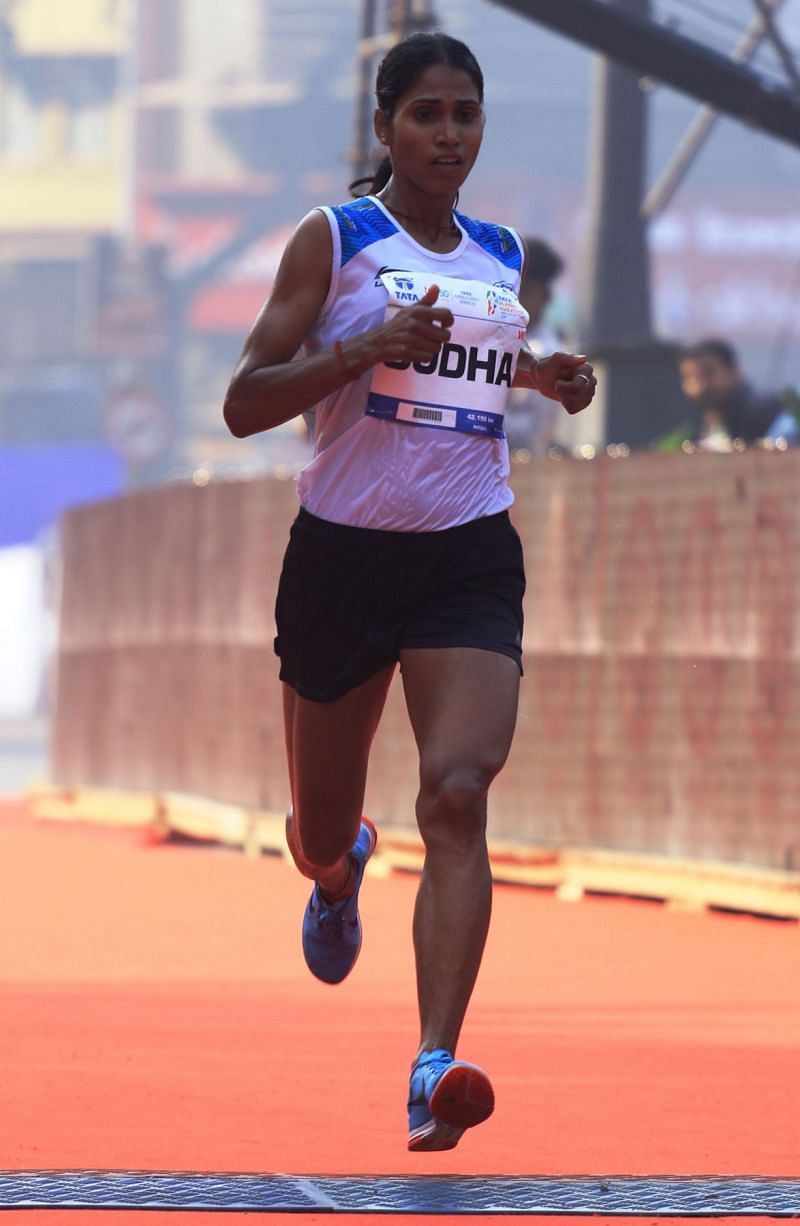
M429 272L385 272L386 320L439 286L451 337L430 362L387 362L372 374L366 413L440 430L502 439L506 400L528 313L512 289Z

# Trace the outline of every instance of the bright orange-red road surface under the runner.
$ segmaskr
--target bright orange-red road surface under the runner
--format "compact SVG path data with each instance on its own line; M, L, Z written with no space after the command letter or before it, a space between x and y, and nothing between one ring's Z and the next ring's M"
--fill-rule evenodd
M0 805L0 1166L800 1175L798 924L510 886L459 1048L497 1108L457 1150L408 1154L415 886L366 879L361 959L331 988L285 862ZM206 1217L243 1215L2 1226Z

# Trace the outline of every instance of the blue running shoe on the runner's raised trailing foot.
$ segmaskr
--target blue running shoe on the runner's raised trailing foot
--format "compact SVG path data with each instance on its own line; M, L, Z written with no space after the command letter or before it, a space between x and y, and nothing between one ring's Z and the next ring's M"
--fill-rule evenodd
M369 818L361 818L359 836L348 853L353 862L353 893L337 902L326 902L319 884L311 891L303 916L303 954L311 973L323 983L341 983L355 966L361 950L358 891L376 845L375 826Z

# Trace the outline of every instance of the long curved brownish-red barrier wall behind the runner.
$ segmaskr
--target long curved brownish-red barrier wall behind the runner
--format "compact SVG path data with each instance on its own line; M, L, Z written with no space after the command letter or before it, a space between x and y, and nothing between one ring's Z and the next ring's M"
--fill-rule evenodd
M496 836L800 866L800 452L515 470L528 596ZM272 608L290 482L164 487L62 525L53 777L283 809ZM394 684L368 812L413 824Z

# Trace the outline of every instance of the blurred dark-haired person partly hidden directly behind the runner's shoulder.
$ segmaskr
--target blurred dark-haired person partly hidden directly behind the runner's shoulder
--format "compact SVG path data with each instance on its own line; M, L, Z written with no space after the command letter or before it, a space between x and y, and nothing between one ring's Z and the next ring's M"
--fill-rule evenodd
M542 239L526 239L526 245L528 259L519 287L519 300L530 315L528 347L539 357L565 347L565 338L544 319L553 297L553 282L564 271L564 260ZM561 412L561 405L537 391L512 391L506 407L508 450L546 455L555 441L555 428Z

